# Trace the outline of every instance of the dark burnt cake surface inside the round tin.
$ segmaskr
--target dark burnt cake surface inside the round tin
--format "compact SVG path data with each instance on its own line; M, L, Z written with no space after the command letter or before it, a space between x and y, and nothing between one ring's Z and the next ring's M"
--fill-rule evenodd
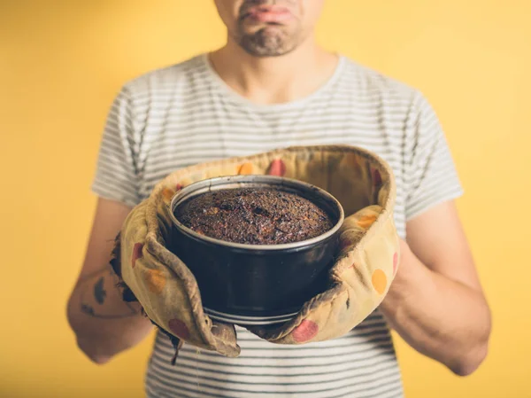
M204 236L249 245L299 242L334 226L312 201L272 188L206 192L178 206L175 216Z

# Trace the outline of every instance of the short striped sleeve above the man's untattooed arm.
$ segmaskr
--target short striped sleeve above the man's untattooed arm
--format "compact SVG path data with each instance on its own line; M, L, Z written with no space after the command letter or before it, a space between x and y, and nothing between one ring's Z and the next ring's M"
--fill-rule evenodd
M463 194L449 144L432 106L419 95L405 144L406 220Z

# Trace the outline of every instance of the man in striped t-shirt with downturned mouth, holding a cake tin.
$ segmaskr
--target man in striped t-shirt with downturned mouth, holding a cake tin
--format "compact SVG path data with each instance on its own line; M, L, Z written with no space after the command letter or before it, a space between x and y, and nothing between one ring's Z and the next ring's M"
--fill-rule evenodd
M114 101L93 189L87 257L68 305L96 363L151 331L107 265L112 239L154 184L178 168L304 144L354 144L394 169L402 261L380 308L341 339L277 346L238 328L239 358L173 348L158 333L150 397L400 397L389 327L458 375L487 354L490 315L453 199L461 193L443 131L418 91L322 50L324 0L216 0L227 45L128 82Z

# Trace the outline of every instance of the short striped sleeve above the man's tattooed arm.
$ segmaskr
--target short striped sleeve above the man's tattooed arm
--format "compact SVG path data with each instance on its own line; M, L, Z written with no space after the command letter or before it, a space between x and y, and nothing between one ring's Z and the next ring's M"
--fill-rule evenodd
M140 202L134 137L131 100L122 89L107 115L92 191L130 207Z

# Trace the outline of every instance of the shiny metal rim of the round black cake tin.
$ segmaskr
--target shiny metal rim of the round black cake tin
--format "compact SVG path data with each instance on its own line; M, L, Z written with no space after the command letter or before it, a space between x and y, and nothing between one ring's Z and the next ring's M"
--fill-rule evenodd
M332 227L332 229L327 230L327 232L315 238L281 245L249 245L227 242L225 240L210 238L198 234L195 230L189 229L179 220L177 220L177 217L174 214L175 209L182 202L188 199L194 198L206 192L237 188L275 188L280 189L281 191L298 193L299 195L311 201L312 198L320 199L322 202L327 204L327 207L329 207L326 210L332 210L336 213L335 215L337 216L337 222L335 222L335 225L334 227ZM319 203L313 203L319 206ZM337 232L337 230L341 228L342 222L344 221L343 208L339 201L335 199L335 197L332 196L330 193L315 185L312 185L311 183L304 183L302 181L281 176L223 176L205 179L196 183L191 183L188 186L182 188L181 191L178 191L173 195L173 198L170 202L169 213L173 225L189 237L196 238L198 240L211 243L213 245L226 246L233 249L240 249L245 251L281 251L289 249L300 249L306 246L312 246L321 241L327 240L327 238L331 238L332 236L334 236L335 232Z

